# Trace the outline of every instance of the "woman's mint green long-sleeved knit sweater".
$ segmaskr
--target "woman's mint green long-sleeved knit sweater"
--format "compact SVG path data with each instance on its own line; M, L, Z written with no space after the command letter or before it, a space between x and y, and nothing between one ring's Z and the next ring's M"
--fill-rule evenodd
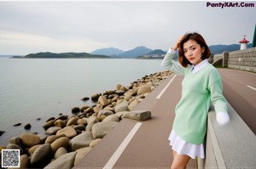
M172 60L173 55L167 53L161 63L166 69L184 76L182 98L175 108L172 129L190 144L203 144L207 133L207 113L211 101L216 113L227 112L221 77L218 70L211 64L192 73L192 65L184 68L177 61Z

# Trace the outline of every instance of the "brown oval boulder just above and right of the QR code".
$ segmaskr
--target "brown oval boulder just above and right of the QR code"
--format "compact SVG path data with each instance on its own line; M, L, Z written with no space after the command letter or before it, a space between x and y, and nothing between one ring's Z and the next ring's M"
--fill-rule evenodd
M34 145L40 144L41 140L36 134L32 133L23 133L20 135L22 144L26 147L32 147Z

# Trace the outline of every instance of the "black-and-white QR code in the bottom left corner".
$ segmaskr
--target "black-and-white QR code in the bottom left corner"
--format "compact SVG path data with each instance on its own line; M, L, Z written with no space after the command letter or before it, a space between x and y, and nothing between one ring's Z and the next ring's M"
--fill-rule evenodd
M2 149L2 167L20 167L20 149Z

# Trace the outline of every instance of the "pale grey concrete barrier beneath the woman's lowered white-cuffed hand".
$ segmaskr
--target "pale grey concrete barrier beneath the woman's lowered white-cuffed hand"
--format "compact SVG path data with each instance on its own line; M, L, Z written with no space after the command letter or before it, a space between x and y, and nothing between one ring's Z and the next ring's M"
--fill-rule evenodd
M198 168L256 168L256 137L228 104L230 123L220 127L211 107L208 114L206 158Z

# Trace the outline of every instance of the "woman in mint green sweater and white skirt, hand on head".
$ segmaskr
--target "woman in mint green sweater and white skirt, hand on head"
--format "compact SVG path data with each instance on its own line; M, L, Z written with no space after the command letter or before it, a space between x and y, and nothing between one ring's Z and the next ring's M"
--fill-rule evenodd
M179 62L172 60L178 49ZM212 101L218 124L230 121L222 93L221 77L208 58L211 51L200 34L187 33L169 49L161 65L183 75L182 98L175 108L169 140L173 150L171 168L186 168L190 158L205 158L207 113Z

